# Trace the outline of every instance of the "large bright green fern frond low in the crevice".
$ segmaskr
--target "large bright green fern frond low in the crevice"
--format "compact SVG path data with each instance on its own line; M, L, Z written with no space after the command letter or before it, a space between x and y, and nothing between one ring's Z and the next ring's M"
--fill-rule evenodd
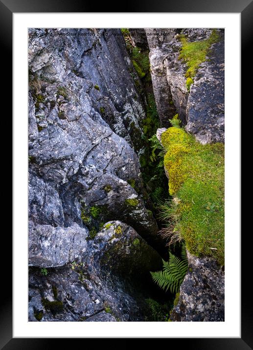
M182 245L181 259L169 252L169 261L165 262L162 260L162 263L162 271L150 272L153 281L165 292L170 289L171 293L178 293L188 270L184 243Z

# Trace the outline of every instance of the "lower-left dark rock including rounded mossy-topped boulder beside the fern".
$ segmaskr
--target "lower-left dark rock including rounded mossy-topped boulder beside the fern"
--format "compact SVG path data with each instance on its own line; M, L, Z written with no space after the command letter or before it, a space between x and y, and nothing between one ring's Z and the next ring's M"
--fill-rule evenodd
M158 253L121 221L107 222L85 248L81 261L29 274L30 321L40 313L41 321L142 321L138 285L161 263Z

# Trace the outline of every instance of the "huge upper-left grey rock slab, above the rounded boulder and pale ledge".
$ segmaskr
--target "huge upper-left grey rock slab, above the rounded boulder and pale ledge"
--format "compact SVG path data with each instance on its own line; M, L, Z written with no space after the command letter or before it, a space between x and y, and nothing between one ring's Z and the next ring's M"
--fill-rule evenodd
M120 217L141 235L156 237L156 221L127 182L143 187L131 146L141 139L145 113L124 39L118 30L66 33L30 30L29 165L37 181L30 182L30 217L40 224L82 225L83 202L106 207L104 221ZM138 205L129 205L133 198Z

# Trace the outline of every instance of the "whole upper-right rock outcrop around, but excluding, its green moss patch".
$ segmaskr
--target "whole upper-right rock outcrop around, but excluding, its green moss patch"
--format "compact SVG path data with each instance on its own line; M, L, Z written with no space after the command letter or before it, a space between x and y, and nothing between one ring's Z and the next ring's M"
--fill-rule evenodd
M195 42L207 39L211 30L168 31L163 39L159 39L160 36L148 38L151 76L161 126L168 127L168 119L179 113L186 131L194 134L202 144L224 142L224 30L217 30L219 42L212 44L189 92L184 76L187 66L179 59L182 44L178 34L182 33L190 42Z

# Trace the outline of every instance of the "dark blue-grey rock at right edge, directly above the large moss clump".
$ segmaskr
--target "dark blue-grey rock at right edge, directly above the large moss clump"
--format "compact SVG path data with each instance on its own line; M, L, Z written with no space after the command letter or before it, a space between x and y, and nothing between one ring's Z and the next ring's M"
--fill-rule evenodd
M208 60L201 64L190 89L187 103L186 131L207 144L224 142L224 32L221 41L213 44Z

